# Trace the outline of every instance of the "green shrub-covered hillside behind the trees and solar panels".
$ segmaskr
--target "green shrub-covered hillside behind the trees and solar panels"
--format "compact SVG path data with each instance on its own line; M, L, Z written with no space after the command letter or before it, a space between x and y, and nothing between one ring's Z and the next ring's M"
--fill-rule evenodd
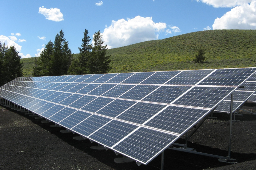
M203 64L193 62L199 47L205 49ZM107 55L111 55L110 73L255 67L256 30L193 32L108 49ZM31 76L34 58L21 60L24 75Z

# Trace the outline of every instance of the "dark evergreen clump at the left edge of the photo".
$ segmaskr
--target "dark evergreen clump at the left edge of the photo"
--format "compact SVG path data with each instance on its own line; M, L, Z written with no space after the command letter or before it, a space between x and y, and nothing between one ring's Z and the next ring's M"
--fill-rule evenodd
M23 63L20 59L21 56L14 46L8 47L0 42L0 86L17 77L23 77Z

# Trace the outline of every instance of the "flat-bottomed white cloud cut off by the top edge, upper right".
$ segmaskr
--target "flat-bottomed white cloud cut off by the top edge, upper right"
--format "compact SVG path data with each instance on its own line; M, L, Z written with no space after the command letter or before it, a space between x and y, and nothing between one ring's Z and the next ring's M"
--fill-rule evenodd
M243 4L250 3L252 0L196 0L197 2L203 2L207 5L212 5L215 8L218 7L235 7Z

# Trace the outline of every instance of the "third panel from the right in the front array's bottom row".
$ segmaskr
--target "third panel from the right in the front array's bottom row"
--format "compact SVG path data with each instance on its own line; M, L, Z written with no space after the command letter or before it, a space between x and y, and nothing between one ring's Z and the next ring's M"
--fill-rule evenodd
M91 133L101 128L109 121L111 121L109 118L92 115L83 122L79 123L77 126L73 127L72 130L84 136L89 136Z

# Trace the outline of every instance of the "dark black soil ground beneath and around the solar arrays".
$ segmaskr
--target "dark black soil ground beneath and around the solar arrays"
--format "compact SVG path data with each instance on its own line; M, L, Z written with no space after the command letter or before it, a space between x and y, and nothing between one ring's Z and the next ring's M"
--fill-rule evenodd
M246 103L243 107L256 113L256 104ZM232 125L231 157L236 164L219 162L218 158L165 150L164 169L256 169L256 115L239 111L238 122ZM213 114L216 119L207 119L189 139L188 146L196 151L227 156L229 116ZM112 150L93 150L97 145L89 140L77 141L73 133L61 133L64 128L51 128L42 120L14 112L5 107L0 109L0 169L115 169L115 170L158 170L161 155L148 165L138 166L135 162L118 164ZM177 142L184 143L184 136Z

